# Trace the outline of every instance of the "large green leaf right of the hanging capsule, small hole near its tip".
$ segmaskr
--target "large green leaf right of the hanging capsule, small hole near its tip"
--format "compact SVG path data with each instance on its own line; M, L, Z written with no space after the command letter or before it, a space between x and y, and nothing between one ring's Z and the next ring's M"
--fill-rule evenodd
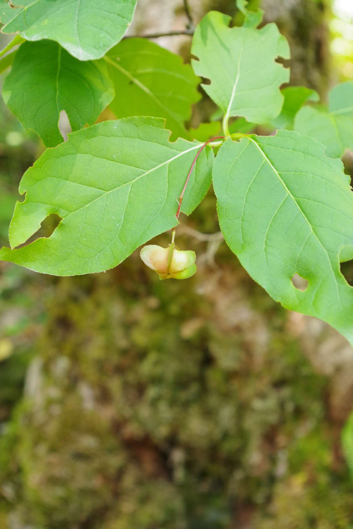
M250 276L284 307L328 322L353 344L353 193L340 160L293 131L227 140L213 186L221 230ZM309 281L294 287L295 274Z

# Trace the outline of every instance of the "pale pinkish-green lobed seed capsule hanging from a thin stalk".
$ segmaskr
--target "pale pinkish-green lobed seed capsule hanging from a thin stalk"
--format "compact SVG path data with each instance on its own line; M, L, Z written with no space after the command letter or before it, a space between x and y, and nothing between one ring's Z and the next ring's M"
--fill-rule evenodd
M159 279L187 279L196 272L195 252L177 250L174 242L168 248L148 244L140 252L145 265L158 273Z

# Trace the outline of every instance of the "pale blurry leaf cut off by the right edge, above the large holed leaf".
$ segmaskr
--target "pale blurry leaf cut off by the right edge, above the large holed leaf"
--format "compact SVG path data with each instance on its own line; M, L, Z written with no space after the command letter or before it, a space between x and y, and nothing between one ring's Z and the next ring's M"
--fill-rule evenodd
M341 83L330 91L328 112L304 106L295 116L294 129L325 145L331 158L353 150L353 83Z

